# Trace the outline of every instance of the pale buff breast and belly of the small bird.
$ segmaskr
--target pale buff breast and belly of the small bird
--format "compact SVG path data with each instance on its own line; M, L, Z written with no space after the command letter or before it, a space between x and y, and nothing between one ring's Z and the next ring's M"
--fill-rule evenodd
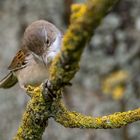
M39 86L48 78L48 67L43 63L30 60L28 65L15 72L20 86Z

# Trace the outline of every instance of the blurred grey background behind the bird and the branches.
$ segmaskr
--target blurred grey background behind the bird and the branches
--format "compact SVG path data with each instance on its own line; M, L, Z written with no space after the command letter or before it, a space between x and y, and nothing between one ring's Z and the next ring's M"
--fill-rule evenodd
M46 19L65 32L70 6L84 0L0 0L0 79L20 48L28 24ZM103 20L87 45L73 86L70 110L103 116L140 107L140 1L122 2ZM18 84L0 89L0 140L15 135L28 96ZM49 121L43 140L140 140L140 122L112 130L69 129Z

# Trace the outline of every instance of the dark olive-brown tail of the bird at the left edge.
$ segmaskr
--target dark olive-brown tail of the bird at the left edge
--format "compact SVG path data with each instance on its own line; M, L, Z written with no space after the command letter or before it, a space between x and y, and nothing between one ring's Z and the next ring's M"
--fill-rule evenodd
M7 74L2 80L0 80L0 88L11 88L18 82L17 78L12 72Z

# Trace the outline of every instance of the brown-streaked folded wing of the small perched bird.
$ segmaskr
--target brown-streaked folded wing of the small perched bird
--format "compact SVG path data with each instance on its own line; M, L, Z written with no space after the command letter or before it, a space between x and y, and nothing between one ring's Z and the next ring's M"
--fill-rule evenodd
M8 69L10 71L16 71L19 69L22 69L24 67L26 67L27 65L27 60L26 57L28 56L28 51L26 49L21 49L16 56L13 58L10 66L8 67Z

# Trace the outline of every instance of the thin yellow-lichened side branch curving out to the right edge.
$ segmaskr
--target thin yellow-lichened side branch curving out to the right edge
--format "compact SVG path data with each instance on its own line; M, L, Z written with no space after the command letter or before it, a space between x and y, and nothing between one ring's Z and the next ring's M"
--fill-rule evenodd
M102 117L85 116L77 112L68 111L62 102L53 104L54 119L56 122L69 128L120 128L140 120L140 108L128 112L117 112Z

